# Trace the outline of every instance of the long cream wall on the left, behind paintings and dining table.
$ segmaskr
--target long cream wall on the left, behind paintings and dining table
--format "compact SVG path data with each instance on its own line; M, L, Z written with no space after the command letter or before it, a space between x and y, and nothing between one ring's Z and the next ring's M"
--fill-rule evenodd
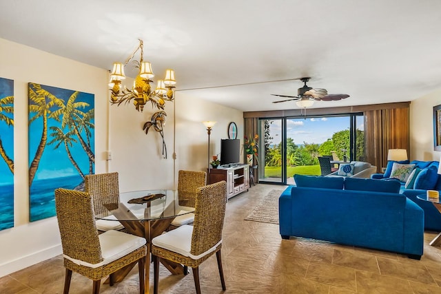
M14 227L0 231L0 277L61 253L56 218L29 222L28 83L95 95L95 171L118 171L121 191L172 188L178 169L205 170L203 120L218 122L212 131L212 154L218 152L220 138L227 137L229 121L236 122L238 138L243 138L242 112L177 92L176 102L165 108L168 158L164 159L159 134L150 130L146 135L142 129L154 109L146 105L140 113L130 103L110 106L107 70L4 39L0 39L0 52L0 77L14 80ZM112 160L106 160L107 150Z

